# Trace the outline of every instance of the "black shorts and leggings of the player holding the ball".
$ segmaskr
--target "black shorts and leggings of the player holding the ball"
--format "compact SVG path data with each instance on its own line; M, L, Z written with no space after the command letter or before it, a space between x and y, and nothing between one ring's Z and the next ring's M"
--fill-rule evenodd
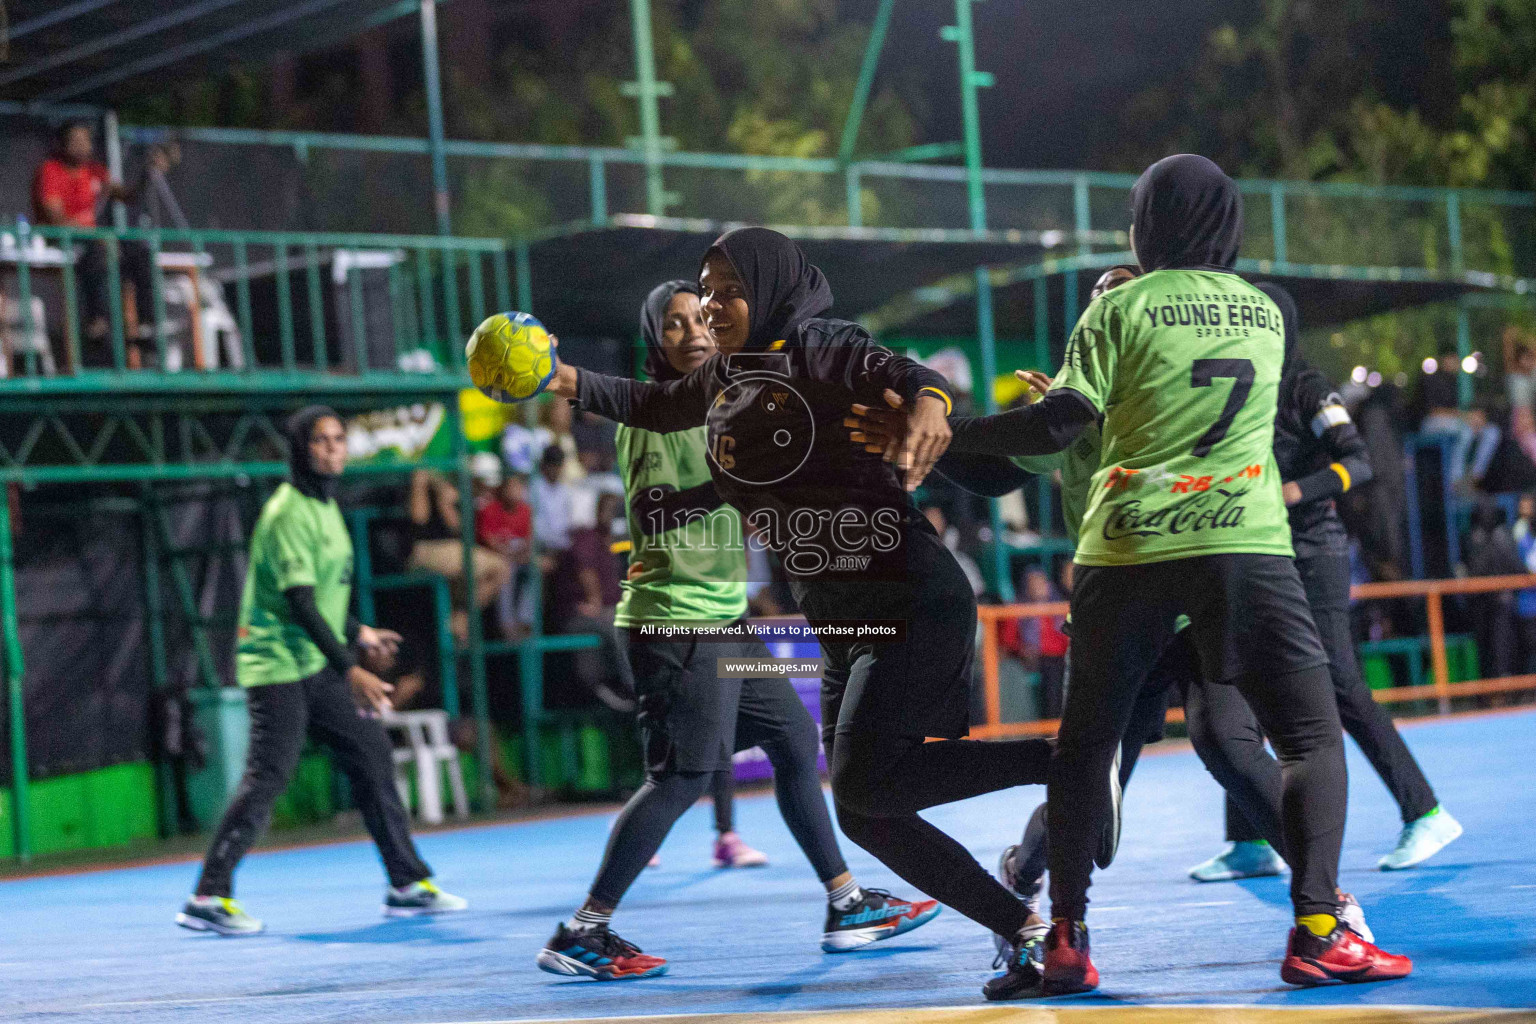
M965 846L919 817L925 808L1041 783L1049 740L940 740L966 728L975 599L932 534L905 534L912 583L797 582L813 625L900 619L906 640L823 642L822 742L837 823L903 880L1014 938L1028 910Z

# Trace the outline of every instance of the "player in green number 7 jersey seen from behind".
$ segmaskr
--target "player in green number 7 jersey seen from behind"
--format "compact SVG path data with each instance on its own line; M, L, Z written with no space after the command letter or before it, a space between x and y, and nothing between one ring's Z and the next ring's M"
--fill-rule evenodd
M1344 749L1273 459L1281 315L1232 272L1241 209L1210 161L1154 164L1132 195L1132 246L1146 273L1089 306L1041 402L952 422L952 450L1044 454L1103 418L1075 556L1074 685L1048 797L1052 993L1098 983L1083 920L1111 811L1097 780L1181 614L1204 677L1238 688L1283 765L1296 927L1281 978L1376 981L1412 970L1339 924Z

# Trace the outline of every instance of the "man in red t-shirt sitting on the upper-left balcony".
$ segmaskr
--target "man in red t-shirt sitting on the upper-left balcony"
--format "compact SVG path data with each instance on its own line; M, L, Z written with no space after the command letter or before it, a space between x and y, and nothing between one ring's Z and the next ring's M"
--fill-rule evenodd
M45 160L32 178L32 207L38 224L58 227L97 227L103 200L124 200L127 192L108 177L106 166L95 158L91 126L71 121L58 130L58 149ZM151 292L149 247L137 241L118 246L123 276L132 284L134 309L126 316L129 341L138 338L138 321L149 316ZM84 313L83 353L88 364L109 362L103 342L108 336L108 252L103 241L88 241L75 263L80 276L80 304Z

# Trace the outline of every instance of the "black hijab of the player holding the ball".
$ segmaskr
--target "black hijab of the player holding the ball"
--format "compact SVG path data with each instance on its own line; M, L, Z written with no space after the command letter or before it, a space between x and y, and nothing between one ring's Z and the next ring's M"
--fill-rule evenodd
M794 241L766 227L737 227L714 239L746 290L746 352L762 352L833 307L833 289Z

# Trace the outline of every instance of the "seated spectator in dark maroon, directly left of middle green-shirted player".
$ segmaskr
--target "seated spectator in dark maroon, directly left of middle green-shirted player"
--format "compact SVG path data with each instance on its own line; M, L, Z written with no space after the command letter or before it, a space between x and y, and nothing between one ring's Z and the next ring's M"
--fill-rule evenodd
M630 660L619 649L613 617L619 605L619 570L613 557L613 520L624 511L622 499L604 494L591 527L571 530L567 548L550 579L551 633L594 633L598 649L576 651L576 679L614 711L633 711L634 683Z

